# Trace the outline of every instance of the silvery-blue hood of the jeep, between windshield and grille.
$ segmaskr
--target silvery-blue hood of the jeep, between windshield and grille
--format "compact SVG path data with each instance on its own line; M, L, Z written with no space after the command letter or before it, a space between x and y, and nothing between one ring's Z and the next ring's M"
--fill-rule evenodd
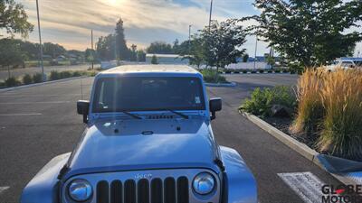
M202 119L102 121L72 152L72 175L101 171L212 168L218 148Z

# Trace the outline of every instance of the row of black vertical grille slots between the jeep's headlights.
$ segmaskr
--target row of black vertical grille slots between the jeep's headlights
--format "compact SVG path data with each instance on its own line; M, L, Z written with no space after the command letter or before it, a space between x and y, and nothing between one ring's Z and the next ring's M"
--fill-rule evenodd
M97 203L188 203L188 179L101 180L97 183Z

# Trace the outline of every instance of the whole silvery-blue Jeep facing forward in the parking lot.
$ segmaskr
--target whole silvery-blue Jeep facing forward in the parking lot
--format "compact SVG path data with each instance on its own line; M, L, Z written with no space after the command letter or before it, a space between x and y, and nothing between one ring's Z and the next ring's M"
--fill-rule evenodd
M47 163L21 202L256 203L243 158L214 139L221 109L187 66L103 71L77 103L87 126L77 147Z

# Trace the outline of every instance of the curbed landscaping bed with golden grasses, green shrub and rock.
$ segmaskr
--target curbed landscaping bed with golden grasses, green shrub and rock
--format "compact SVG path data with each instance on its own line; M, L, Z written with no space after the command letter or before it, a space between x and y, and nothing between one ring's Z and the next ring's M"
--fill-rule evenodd
M256 88L240 109L333 157L362 161L362 71L307 69L296 87Z

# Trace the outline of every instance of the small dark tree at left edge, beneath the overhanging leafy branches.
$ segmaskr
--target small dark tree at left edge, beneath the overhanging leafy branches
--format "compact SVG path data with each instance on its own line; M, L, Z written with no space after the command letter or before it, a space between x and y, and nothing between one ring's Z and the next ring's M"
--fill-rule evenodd
M24 65L24 54L20 50L20 43L14 39L0 40L0 65L7 67L10 78L10 67Z

